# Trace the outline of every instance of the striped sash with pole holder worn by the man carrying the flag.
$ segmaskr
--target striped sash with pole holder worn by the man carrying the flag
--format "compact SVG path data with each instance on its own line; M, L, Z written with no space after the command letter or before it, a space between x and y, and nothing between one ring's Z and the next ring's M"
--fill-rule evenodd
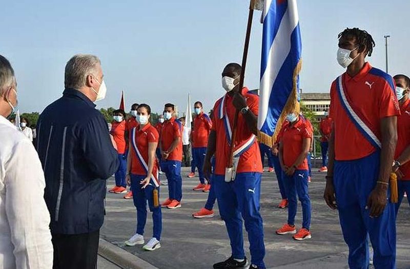
M223 120L223 125L225 127L225 133L227 136L228 144L231 145L232 143L232 130L231 130L231 122L229 121L229 116L228 112L226 110L225 102L226 102L226 96L224 95L222 97L222 100L219 105L219 118ZM246 139L244 142L240 143L238 146L235 147L234 153L233 153L233 169L227 168L226 173L225 173L225 180L226 181L231 181L235 180L236 176L236 170L238 167L239 163L239 158L240 156L245 153L246 151L251 148L253 143L256 140L256 136L252 134L248 139Z

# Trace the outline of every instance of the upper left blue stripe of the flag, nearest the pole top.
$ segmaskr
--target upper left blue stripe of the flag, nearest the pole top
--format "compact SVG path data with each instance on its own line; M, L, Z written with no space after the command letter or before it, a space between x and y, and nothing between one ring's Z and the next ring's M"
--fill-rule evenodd
M265 70L268 65L269 51L271 50L273 40L278 33L280 22L283 15L288 9L288 1L283 1L279 6L277 1L273 0L269 12L267 13L263 23L263 37L262 37L262 59L260 63L260 70ZM260 78L263 73L261 72Z

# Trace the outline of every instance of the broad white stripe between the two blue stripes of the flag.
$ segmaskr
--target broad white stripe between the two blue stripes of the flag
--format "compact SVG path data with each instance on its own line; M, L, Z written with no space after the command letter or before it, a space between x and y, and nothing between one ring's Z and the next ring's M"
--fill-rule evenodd
M273 3L275 5L276 3ZM296 0L289 0L280 23L278 32L269 51L267 67L260 80L260 98L262 104L259 105L258 129L260 130L265 123L269 109L269 99L273 84L278 76L286 57L291 51L291 35L299 23Z

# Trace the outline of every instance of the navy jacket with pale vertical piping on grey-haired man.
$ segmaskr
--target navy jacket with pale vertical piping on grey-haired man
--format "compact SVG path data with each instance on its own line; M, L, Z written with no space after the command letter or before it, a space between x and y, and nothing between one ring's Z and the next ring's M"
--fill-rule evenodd
M99 230L106 179L119 165L103 114L83 93L66 89L40 115L36 130L51 232L73 235Z

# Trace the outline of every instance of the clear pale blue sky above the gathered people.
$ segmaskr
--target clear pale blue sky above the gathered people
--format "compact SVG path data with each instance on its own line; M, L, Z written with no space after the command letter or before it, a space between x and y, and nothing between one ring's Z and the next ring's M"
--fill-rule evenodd
M107 85L97 108L146 102L154 112L172 102L185 112L188 93L212 109L223 95L221 72L241 63L249 0L32 1L2 3L0 54L18 82L19 110L41 112L64 90L64 68L77 53L95 54ZM303 92L329 92L343 69L337 35L359 27L376 42L370 63L385 70L384 35L391 35L388 71L410 74L410 27L404 0L299 0ZM259 87L262 25L255 13L245 85ZM193 104L191 104L193 106Z

